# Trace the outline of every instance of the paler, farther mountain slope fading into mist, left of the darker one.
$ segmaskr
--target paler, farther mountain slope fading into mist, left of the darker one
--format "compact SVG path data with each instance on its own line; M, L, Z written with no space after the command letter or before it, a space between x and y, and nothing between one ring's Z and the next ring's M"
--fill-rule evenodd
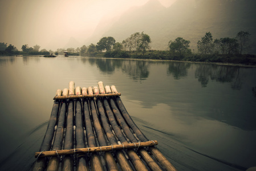
M165 9L159 1L151 0L144 6L132 7L121 15L119 19L115 19L114 21L109 19L109 23L106 23L105 19L103 19L91 38L87 39L86 44L97 43L104 36L112 36L117 42L121 42L134 32L144 31L144 28L147 28L147 24L149 23L149 18Z

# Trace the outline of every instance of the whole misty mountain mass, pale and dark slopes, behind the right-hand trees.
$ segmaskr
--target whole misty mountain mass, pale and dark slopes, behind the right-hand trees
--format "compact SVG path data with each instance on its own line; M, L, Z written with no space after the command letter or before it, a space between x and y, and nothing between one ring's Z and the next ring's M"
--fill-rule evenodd
M205 32L210 31L214 39L219 39L249 31L251 43L256 44L255 6L255 0L177 0L166 8L151 0L126 11L118 21L105 26L106 30L96 31L88 42L103 36L113 36L121 42L134 32L144 31L151 36L151 47L155 50L166 50L169 40L181 36L190 40L190 48L196 51L197 41ZM255 46L250 53L256 54Z

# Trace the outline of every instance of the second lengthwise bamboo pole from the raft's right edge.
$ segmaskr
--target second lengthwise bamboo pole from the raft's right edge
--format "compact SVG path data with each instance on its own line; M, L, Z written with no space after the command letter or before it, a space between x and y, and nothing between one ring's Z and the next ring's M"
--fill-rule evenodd
M129 126L127 125L126 121L124 120L123 116L121 115L119 109L116 107L115 101L113 100L112 97L110 98L110 103L111 103L112 111L116 117L116 120L119 123L120 127L123 128L125 135L128 137L128 139L130 141L132 141L132 143L136 143L137 142L136 137L131 132ZM151 168L152 170L162 170L160 168L160 166L157 165L155 160L153 160L152 157L149 156L149 154L147 153L147 151L144 148L140 148L139 153L141 154L141 156L143 156L143 159L145 162L147 162L149 168Z

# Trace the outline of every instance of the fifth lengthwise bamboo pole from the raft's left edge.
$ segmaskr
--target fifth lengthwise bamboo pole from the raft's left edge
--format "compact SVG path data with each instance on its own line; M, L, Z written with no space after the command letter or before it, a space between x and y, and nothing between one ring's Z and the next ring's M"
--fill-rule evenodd
M92 87L88 87L88 94L93 94ZM95 147L96 145L96 139L94 136L94 128L92 127L91 123L91 117L90 117L90 107L88 104L88 100L83 100L83 112L84 112L84 123L86 125L86 137L87 137L87 143L88 147ZM103 171L103 165L100 160L100 156L97 153L91 154L91 168L92 170L99 170Z

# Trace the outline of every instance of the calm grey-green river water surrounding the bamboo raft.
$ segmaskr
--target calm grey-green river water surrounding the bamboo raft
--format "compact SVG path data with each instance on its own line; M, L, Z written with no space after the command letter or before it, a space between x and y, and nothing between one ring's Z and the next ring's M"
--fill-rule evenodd
M0 170L29 170L56 89L115 85L178 170L256 166L256 68L86 57L0 56Z

